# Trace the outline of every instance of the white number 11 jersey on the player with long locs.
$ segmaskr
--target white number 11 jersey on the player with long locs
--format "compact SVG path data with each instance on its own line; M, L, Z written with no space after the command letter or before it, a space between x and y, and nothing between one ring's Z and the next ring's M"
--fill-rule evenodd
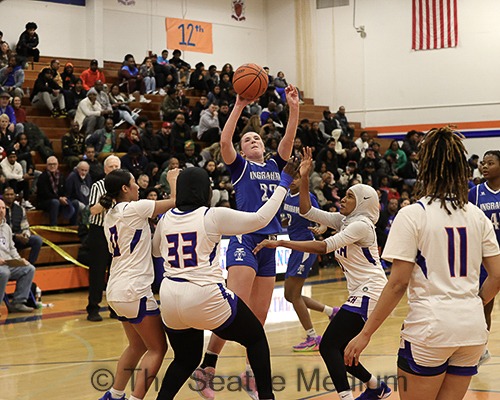
M448 215L440 201L422 198L396 216L383 258L415 263L401 336L429 347L486 343L478 296L483 257L500 254L491 221L471 203Z

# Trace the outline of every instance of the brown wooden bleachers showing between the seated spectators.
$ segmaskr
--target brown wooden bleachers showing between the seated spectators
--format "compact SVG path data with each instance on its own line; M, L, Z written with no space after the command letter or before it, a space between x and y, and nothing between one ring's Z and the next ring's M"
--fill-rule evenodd
M40 57L40 62L30 63L28 69L25 70L25 82L23 88L26 94L26 88L32 90L35 80L39 72L50 66L50 61L54 57L42 56ZM61 63L61 68L59 72L64 71L64 66L66 63L70 62L74 66L74 74L78 77L84 70L89 68L90 59L68 59L68 58L57 58ZM104 61L104 68L100 68L104 72L106 84L110 86L113 83L118 83L118 71L121 68L121 63ZM201 95L201 92L196 90L185 90L186 97L189 99L189 105L192 107L196 104ZM137 96L138 97L138 96ZM151 103L139 103L134 102L130 106L132 109L140 108L142 109L141 115L147 116L148 119L153 123L155 132L161 128L162 121L160 120L160 105L163 101L163 96L160 95L146 95L146 97L151 101ZM321 121L323 118L323 111L327 110L327 106L318 106L314 104L314 99L304 98L303 105L300 106L300 119L307 118L311 122ZM22 106L26 110L28 121L38 125L47 137L51 140L52 146L55 151L55 155L60 161L59 169L64 174L69 174L69 168L62 164L62 147L61 138L69 130L70 120L67 119L54 119L50 117L50 112L45 107L33 107L29 100L29 96L25 95L22 100ZM355 128L355 137L359 137L360 133L363 131L361 124L354 122L351 124ZM117 134L125 131L127 128L126 124L123 124L119 129L116 129ZM376 131L368 131L370 137L376 137ZM381 153L389 147L389 139L377 139L381 145ZM203 146L203 143L200 143ZM45 164L42 158L37 154L34 157L34 163L37 170L45 170ZM35 201L34 199L32 199ZM48 225L49 218L48 214L42 211L28 211L28 221L30 226L37 225ZM59 220L60 226L63 228L69 228L76 230L77 227L65 226L62 218ZM45 230L37 231L40 236L50 240L56 245L60 246L61 249L65 250L72 257L76 258L78 254L78 248L80 247L80 240L78 236L74 233L64 233L64 232L51 232ZM29 249L20 252L21 256L27 258L29 254ZM62 290L71 289L88 286L88 271L82 267L76 266L62 256L60 256L55 250L44 245L42 251L36 262L36 273L34 282L44 291L47 290Z

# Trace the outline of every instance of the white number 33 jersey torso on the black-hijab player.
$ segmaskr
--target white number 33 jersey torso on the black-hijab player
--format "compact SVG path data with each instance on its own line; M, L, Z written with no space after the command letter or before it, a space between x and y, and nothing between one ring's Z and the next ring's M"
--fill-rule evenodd
M185 279L204 286L224 283L219 266L220 245L205 230L207 207L194 211L169 210L158 222L154 255L165 260L165 277ZM158 254L159 252L159 254Z

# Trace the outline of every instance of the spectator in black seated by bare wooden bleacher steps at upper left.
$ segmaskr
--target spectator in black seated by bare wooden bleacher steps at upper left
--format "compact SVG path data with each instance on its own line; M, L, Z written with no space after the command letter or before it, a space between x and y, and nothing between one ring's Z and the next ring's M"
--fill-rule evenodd
M44 68L35 81L35 87L30 97L31 104L46 106L51 111L53 118L66 118L68 113L61 89L61 86L52 79L52 69ZM59 111L54 107L55 104L59 106Z

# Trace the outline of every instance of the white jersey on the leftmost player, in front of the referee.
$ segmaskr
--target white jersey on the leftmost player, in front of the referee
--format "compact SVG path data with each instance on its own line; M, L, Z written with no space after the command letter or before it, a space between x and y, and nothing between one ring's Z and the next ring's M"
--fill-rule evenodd
M151 291L154 271L148 218L154 209L153 200L117 203L104 218L113 256L106 289L110 301L135 301Z

